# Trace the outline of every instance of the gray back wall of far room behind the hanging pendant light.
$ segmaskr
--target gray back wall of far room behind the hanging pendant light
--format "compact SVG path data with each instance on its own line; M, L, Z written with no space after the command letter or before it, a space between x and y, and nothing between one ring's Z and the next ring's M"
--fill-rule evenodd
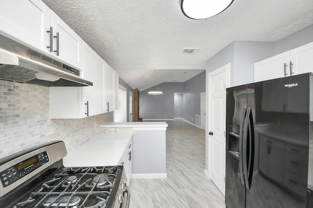
M163 82L158 85L163 95L148 95L156 86L139 92L139 117L143 119L174 119L174 93L183 93L182 82Z

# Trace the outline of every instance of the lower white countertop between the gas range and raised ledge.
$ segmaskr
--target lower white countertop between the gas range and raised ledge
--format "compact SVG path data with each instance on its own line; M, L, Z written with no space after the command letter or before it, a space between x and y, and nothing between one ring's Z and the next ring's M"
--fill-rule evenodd
M65 167L116 166L132 133L101 133L63 158Z

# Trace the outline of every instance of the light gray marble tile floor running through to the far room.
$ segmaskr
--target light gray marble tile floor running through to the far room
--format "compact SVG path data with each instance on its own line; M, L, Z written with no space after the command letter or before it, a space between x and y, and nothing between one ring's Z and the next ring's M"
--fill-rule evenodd
M205 131L182 119L166 123L167 178L132 179L130 208L225 208L203 172Z

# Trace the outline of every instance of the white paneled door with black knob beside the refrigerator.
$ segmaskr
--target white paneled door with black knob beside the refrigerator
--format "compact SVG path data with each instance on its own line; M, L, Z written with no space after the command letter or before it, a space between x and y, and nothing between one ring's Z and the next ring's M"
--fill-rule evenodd
M225 195L226 87L230 64L208 74L209 177Z

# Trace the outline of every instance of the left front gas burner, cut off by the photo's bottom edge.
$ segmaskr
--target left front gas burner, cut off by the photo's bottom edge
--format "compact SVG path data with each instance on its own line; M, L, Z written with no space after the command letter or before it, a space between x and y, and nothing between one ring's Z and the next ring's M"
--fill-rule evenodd
M49 196L45 199L43 206L49 208L78 208L82 201L79 196Z

